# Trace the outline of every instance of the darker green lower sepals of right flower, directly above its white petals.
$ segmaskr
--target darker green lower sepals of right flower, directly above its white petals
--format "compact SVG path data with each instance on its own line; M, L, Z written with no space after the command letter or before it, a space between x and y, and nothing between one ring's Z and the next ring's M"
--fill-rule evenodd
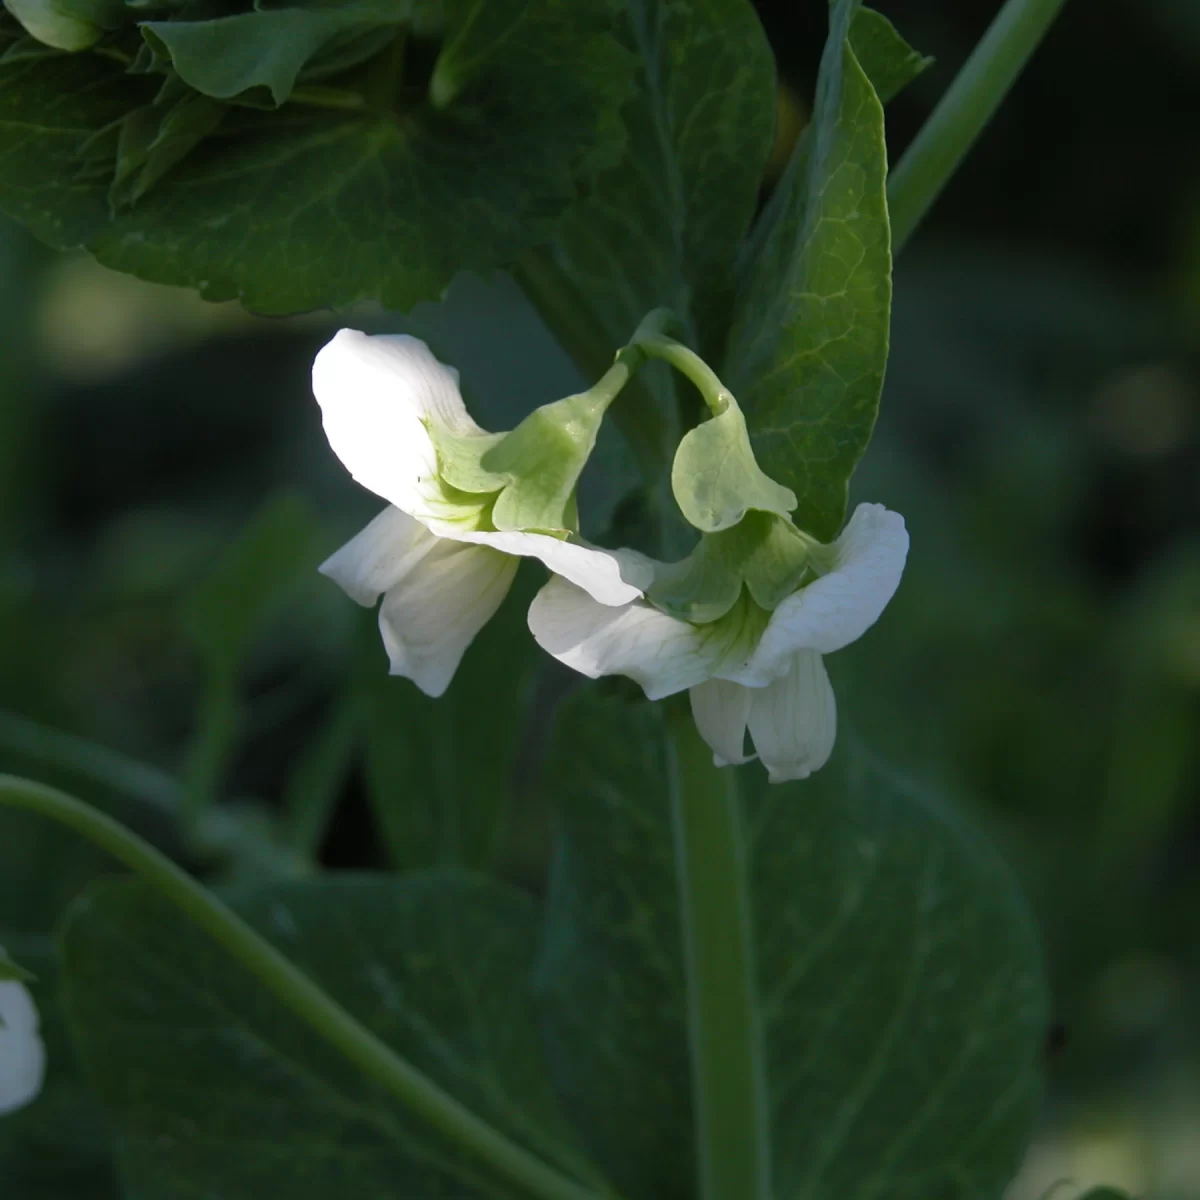
M772 612L804 582L810 553L809 540L785 517L748 512L658 570L649 600L672 617L704 624L733 607L744 583L754 602Z

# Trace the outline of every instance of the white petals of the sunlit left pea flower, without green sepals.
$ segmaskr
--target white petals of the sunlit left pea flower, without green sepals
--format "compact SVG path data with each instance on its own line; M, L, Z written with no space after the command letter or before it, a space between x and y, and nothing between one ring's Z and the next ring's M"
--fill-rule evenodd
M334 452L389 502L320 570L355 601L379 596L391 673L440 696L508 594L518 559L541 559L601 607L638 599L652 569L632 553L491 523L492 494L442 478L433 434L493 439L467 413L458 372L403 335L343 329L317 355L312 385ZM485 443L479 443L480 445Z

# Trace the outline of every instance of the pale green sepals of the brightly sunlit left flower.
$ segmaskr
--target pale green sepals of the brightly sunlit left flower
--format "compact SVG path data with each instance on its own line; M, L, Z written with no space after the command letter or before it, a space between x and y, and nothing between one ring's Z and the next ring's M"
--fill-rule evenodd
M498 493L497 529L576 532L575 488L612 398L602 390L566 396L535 408L510 433L431 428L442 478L463 492Z

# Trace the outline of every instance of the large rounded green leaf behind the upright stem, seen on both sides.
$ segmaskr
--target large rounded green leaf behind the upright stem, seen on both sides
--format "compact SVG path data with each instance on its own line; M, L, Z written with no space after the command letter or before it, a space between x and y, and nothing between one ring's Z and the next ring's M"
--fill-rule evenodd
M569 1116L629 1200L692 1192L660 707L560 719L560 840L539 962ZM1040 1090L1045 997L1007 869L842 738L803 784L743 768L779 1200L998 1195Z

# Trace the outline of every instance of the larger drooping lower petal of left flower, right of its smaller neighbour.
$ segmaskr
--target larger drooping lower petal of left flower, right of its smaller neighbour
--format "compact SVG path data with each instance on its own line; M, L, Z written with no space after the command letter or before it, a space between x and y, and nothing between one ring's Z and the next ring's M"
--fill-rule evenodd
M384 594L379 631L391 673L440 696L475 635L508 594L517 559L428 535L432 547Z

